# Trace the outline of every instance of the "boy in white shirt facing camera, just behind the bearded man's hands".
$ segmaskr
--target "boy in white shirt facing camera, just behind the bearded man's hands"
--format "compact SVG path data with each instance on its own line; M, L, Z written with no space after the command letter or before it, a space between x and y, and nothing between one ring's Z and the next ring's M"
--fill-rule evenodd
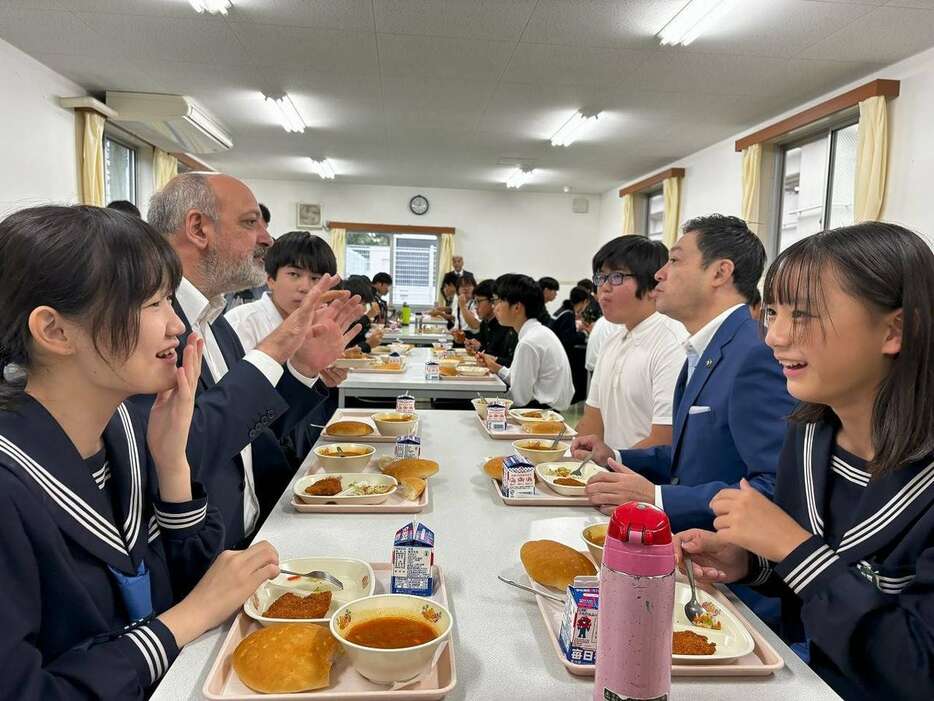
M237 332L245 353L256 348L299 308L322 275L337 273L337 261L327 241L307 231L290 231L280 236L269 247L263 262L269 289L255 302L241 304L224 315ZM337 409L335 388L345 379L346 370L322 368L313 389L327 399L312 409L307 420L298 422L294 430L280 436L279 443L293 467L301 464L317 440L321 429L315 424L326 424Z

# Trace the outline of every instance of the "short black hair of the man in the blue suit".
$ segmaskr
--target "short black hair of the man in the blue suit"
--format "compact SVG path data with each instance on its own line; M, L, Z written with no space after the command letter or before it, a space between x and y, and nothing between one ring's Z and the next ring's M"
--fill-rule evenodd
M739 217L710 214L696 217L684 225L685 234L697 234L701 264L706 268L715 260L733 262L733 287L747 301L759 284L765 269L765 246Z

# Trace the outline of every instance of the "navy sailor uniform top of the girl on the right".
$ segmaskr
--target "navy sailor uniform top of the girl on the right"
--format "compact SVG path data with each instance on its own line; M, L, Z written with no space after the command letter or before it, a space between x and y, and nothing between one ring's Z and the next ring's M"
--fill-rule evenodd
M775 503L812 533L749 584L782 597L783 635L848 701L934 699L934 455L874 477L837 542L823 533L836 427L792 425Z

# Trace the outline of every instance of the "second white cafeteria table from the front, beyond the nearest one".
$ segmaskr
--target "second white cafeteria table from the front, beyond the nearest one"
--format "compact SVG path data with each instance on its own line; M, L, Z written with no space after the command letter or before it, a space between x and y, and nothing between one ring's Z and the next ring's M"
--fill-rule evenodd
M396 397L408 392L416 399L473 399L479 392L484 397L502 397L506 383L495 375L489 379L426 380L425 362L430 348L413 348L406 356L402 373L354 372L338 386L338 406L347 397Z

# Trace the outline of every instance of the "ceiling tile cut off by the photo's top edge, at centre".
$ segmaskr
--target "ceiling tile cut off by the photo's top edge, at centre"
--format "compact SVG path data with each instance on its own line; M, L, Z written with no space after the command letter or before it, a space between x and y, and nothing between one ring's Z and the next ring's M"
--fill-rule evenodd
M375 0L374 4L379 32L518 40L535 0Z

